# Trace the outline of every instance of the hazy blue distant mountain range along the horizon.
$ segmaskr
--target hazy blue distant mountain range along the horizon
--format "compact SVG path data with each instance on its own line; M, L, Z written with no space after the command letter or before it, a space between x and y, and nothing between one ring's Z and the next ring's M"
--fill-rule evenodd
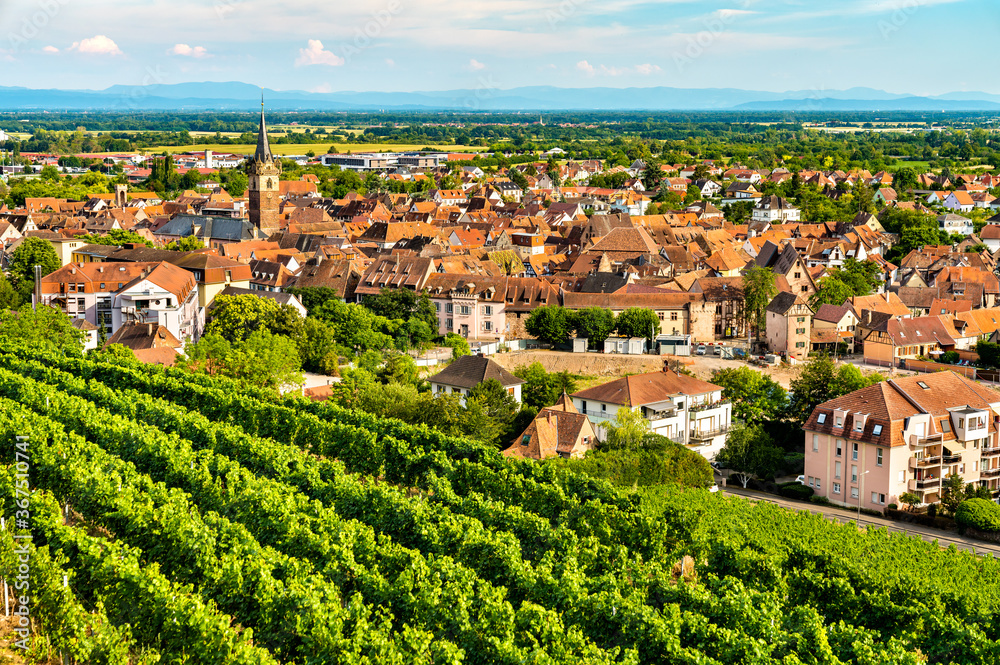
M0 86L0 110L247 111L261 90L247 83L178 83L106 90ZM736 88L555 88L530 86L425 92L265 90L272 111L998 111L1000 95L952 92L919 97L872 88L763 92Z

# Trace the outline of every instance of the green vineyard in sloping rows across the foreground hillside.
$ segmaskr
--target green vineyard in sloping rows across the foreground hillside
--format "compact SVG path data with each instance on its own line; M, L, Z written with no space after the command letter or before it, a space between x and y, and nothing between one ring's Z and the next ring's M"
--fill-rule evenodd
M0 464L0 576L30 535L43 656L1000 662L991 558L227 379L0 349Z

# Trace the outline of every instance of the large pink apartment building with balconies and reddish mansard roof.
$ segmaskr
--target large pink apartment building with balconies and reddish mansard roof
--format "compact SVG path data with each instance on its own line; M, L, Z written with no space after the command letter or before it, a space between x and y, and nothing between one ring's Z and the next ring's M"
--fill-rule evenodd
M806 483L832 503L873 510L913 492L941 499L941 481L1000 490L1000 392L955 372L862 388L817 406L805 430Z

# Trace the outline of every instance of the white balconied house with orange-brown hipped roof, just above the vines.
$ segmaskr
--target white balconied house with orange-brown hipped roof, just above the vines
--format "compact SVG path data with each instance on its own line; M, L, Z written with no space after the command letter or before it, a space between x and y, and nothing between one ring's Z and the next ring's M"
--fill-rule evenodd
M618 409L639 409L655 434L712 459L722 449L732 422L732 404L722 387L666 369L635 374L570 395L573 406L607 436Z

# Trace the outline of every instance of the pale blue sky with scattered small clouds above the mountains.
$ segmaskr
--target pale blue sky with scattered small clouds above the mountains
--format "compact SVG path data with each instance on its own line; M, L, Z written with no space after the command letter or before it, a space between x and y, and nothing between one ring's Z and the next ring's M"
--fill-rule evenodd
M0 85L1000 93L996 0L0 0Z

